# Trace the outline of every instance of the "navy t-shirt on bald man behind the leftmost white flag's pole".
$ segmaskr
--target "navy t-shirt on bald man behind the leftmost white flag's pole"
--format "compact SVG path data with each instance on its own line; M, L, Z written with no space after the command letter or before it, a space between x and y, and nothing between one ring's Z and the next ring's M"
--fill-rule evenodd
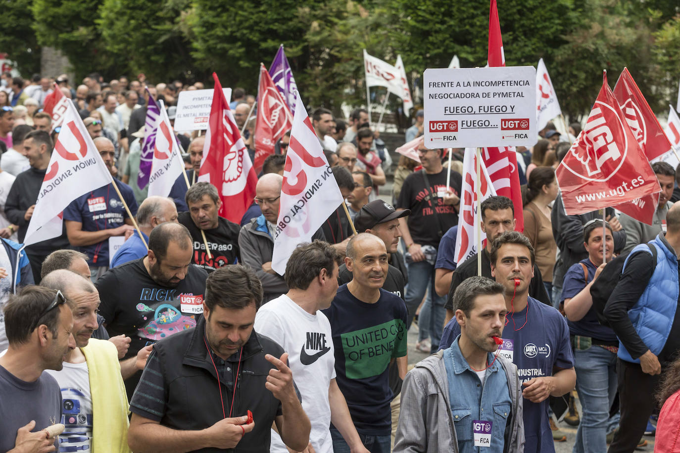
M130 212L136 215L137 200L135 200L132 188L120 181L116 181L116 185L130 208ZM112 183L76 198L64 209L64 220L82 223L83 231L118 228L128 217ZM90 266L109 266L109 241L107 239L97 244L74 248L87 255Z

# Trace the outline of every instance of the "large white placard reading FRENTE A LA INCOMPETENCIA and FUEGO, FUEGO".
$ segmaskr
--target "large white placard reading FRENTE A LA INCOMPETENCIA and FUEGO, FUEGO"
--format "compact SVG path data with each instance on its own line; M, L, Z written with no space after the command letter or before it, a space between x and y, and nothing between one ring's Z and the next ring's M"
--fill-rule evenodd
M425 146L532 146L536 69L532 66L426 69Z

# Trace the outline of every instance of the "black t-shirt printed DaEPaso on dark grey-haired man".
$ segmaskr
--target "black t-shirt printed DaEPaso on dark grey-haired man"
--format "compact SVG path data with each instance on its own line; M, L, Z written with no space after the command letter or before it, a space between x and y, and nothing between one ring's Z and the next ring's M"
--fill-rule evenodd
M177 216L177 221L186 226L191 234L194 247L194 255L191 258L193 264L210 273L227 264L237 264L241 261L241 251L239 250L241 227L236 223L230 222L224 217L218 217L217 228L204 230L205 240L212 255L212 259L208 259L201 229L196 226L191 215L188 212L180 213Z

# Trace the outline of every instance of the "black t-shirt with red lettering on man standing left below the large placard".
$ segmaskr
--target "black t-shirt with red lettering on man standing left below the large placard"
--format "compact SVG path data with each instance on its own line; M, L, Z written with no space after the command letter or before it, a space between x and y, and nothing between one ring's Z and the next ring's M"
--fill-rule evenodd
M444 168L439 173L428 174L429 187L425 183L424 170L411 173L404 181L395 207L411 210L408 225L415 244L428 244L437 249L443 233L458 225L458 214L454 206L444 204L443 198L439 197L446 191L447 171ZM461 185L460 173L452 171L449 189L460 196Z

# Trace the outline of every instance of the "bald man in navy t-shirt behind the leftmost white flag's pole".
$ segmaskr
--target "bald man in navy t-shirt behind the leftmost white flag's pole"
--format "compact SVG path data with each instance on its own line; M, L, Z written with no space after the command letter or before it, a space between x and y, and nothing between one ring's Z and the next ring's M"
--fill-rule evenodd
M109 172L115 168L114 144L104 137L95 139ZM73 200L64 210L66 234L71 247L88 256L90 278L97 281L109 268L109 238L135 233L132 219L125 211L123 201L108 183ZM116 183L132 215L137 213L137 200L132 188L120 181ZM135 233L137 234L137 233Z

